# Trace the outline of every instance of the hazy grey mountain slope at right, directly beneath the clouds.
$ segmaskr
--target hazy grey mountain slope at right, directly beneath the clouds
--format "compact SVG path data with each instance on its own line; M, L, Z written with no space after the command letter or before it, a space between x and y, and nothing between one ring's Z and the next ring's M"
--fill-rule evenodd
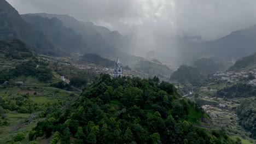
M168 56L169 53L173 51L172 49L165 52L167 56L163 57L170 59L171 61L178 59L178 62L186 64L193 64L191 62L196 61L199 57L205 56L237 59L256 52L255 35L256 25L231 32L223 38L203 43L189 41L188 39L181 37L174 40L174 42L169 39L170 42L166 40L163 43L175 45L177 47L177 52L172 56L174 59L171 59L171 57ZM161 52L161 47L159 47L159 50Z

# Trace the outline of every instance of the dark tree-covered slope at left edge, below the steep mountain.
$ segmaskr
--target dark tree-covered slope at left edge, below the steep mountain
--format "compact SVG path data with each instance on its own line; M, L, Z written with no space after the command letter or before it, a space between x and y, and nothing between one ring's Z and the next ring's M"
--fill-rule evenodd
M36 77L39 81L50 82L53 79L48 63L32 54L20 40L0 41L0 83L14 80L19 76ZM6 67L6 65L10 67Z

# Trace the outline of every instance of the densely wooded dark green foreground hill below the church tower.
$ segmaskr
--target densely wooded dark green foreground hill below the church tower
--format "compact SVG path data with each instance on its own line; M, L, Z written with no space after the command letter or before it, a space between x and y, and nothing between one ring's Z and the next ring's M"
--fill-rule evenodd
M197 128L205 114L159 79L102 74L66 110L37 123L29 139L51 143L234 143L222 130ZM175 101L174 101L175 100Z

